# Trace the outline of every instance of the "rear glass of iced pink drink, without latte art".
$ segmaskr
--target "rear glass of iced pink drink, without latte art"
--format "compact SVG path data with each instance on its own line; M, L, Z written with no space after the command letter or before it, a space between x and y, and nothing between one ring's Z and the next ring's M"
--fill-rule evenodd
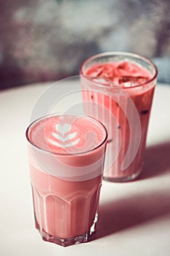
M142 171L157 69L134 53L101 53L80 69L85 114L108 130L104 179L134 180Z

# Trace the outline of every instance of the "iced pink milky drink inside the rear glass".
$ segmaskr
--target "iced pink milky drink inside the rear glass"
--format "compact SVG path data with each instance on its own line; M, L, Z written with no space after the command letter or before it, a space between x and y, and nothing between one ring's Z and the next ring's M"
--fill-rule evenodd
M82 67L83 68L83 67ZM86 108L86 114L96 116L98 120L103 122L109 133L109 143L107 146L107 171L104 172L104 178L110 181L129 181L136 178L142 170L144 161L144 148L147 137L147 127L150 118L150 110L152 105L152 97L155 89L154 83L147 83L152 78L150 71L138 64L128 61L115 61L98 64L93 64L88 69L83 70L84 75L90 75L88 79L82 79L82 96L85 102L96 102L99 106L104 106L103 110L95 110L94 108ZM91 80L91 84L89 82ZM136 156L133 161L129 161L125 170L122 170L123 160L128 151L128 146L131 138L139 135L139 130L136 127L136 119L133 115L134 110L131 110L131 127L134 127L134 134L131 134L130 126L126 113L129 108L129 97L122 97L109 86L109 82L119 85L129 95L134 102L139 120L141 124L141 138L139 148L136 148ZM97 86L95 86L95 84ZM99 86L98 86L99 84ZM143 86L140 86L143 85ZM101 87L100 87L101 85ZM102 94L102 92L104 94ZM107 96L107 95L109 96ZM114 95L114 100L112 99ZM117 104L120 102L121 104ZM125 111L121 108L124 106ZM99 108L99 107L98 107ZM109 115L106 112L109 110L117 121L117 125L113 125ZM126 113L125 113L126 112ZM116 157L117 156L117 157ZM108 164L109 162L109 164Z

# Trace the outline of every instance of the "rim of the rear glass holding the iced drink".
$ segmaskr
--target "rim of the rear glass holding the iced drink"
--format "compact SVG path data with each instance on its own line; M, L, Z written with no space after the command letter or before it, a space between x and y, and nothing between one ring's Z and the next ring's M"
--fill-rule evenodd
M150 64L153 69L155 70L155 74L152 76L152 78L150 78L149 80L147 80L146 82L144 83L140 83L140 84L137 84L135 86L130 86L130 87L124 87L124 86L120 86L118 85L117 83L114 83L112 82L112 80L110 79L106 79L108 80L109 82L111 82L113 84L113 86L120 86L121 88L123 89L134 89L134 88L138 88L140 86L144 86L148 83L151 83L153 80L155 80L157 77L158 77L158 69L157 67L155 66L155 64L150 60L150 59L147 59L146 57L142 56L142 55L139 55L137 53L130 53L130 52L124 52L124 51L109 51L109 52L104 52L104 53L98 53L96 55L93 55L93 56L90 56L88 59L85 59L85 61L82 62L82 65L80 67L80 75L83 76L83 78L86 78L87 80L89 80L91 83L95 84L96 86L100 86L101 88L106 88L108 87L107 85L104 85L103 83L100 83L100 82L93 82L92 80L90 80L90 77L91 75L85 75L85 73L82 71L83 67L85 66L85 64L87 64L88 62L94 60L94 59L98 59L99 57L104 57L104 56L126 56L126 57L132 57L134 59L141 59L145 62L147 62L147 64ZM100 78L100 77L98 77Z

